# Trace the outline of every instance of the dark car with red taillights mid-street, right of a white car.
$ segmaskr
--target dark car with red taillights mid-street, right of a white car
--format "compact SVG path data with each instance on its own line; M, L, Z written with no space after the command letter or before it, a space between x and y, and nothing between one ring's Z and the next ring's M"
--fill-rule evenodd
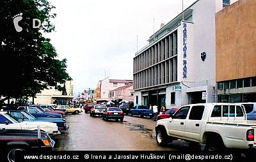
M108 107L104 110L102 114L102 119L120 119L120 121L124 120L124 112L119 107Z

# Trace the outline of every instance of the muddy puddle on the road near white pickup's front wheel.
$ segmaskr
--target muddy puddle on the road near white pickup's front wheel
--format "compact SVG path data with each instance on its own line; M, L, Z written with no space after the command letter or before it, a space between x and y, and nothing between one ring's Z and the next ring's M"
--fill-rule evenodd
M129 123L129 122L125 122L124 124L127 126L127 128L130 131L143 133L145 136L147 136L149 138L155 138L153 130L146 128L143 124L134 124L134 123Z

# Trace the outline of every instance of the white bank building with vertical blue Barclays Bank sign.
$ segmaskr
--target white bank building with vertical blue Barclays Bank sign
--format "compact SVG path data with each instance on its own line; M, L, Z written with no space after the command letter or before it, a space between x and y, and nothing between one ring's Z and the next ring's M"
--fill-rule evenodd
M216 101L215 13L228 4L195 1L150 36L133 58L134 104L177 108Z

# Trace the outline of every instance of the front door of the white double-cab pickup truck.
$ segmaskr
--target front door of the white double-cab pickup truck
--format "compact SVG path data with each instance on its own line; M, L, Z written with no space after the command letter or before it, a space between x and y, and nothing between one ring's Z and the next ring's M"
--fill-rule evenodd
M181 107L173 117L169 118L168 133L173 136L184 137L185 123L190 106Z

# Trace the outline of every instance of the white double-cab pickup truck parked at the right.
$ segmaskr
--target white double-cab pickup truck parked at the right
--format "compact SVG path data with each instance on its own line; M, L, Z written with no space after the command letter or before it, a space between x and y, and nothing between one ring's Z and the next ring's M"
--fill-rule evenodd
M180 107L156 124L158 145L172 140L205 144L206 151L256 149L256 121L247 121L243 105L198 103Z

